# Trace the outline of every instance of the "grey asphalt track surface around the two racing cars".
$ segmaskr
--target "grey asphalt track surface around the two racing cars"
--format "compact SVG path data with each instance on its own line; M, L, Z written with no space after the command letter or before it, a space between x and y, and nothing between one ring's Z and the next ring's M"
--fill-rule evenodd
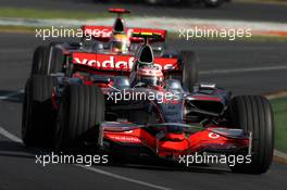
M166 165L112 164L84 167L35 164L35 153L20 142L24 83L32 53L43 43L28 34L0 34L0 190L15 189L285 189L287 166L273 163L261 176L232 174L224 165L190 168ZM287 89L286 42L170 41L196 50L201 80L236 93L267 93Z

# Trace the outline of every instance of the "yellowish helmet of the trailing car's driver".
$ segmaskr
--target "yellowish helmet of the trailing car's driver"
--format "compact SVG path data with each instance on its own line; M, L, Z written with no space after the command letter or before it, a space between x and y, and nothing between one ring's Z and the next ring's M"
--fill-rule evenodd
M130 41L125 34L115 34L110 41L111 51L115 53L128 53Z

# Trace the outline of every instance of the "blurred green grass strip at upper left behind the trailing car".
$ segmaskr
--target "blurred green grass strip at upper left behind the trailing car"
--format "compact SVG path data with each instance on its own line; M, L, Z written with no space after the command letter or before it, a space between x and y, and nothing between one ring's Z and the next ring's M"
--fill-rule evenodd
M23 8L0 8L0 17L21 17L21 18L74 18L87 20L97 17L113 17L110 13L87 13L82 11L53 11Z

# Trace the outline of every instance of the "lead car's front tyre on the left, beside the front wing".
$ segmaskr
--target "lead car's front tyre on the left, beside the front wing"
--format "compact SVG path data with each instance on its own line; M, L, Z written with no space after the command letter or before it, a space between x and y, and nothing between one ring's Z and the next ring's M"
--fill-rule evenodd
M55 150L75 151L78 142L97 143L104 121L104 97L97 86L71 85L62 94L55 129ZM72 145L73 144L73 145Z

